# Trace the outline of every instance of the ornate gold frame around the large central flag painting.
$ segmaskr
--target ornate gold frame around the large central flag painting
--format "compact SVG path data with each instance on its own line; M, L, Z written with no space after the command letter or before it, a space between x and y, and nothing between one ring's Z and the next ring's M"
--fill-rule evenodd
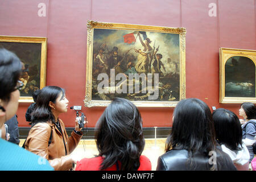
M185 80L185 36L186 29L146 26L138 24L122 24L122 23L106 23L88 20L87 22L87 53L86 53L86 90L85 90L85 107L108 106L111 101L92 100L92 55L93 55L93 28L106 28L115 30L139 30L167 32L171 34L179 34L180 47L180 93L179 98L186 98L186 80ZM175 107L178 101L132 101L138 107Z

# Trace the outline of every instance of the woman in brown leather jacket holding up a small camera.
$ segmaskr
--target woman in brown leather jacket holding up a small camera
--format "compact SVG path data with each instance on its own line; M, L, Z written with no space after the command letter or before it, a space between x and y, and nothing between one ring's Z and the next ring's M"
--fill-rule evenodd
M76 163L71 155L79 143L82 133L76 121L71 137L68 137L59 114L66 113L68 100L64 89L58 86L44 87L31 113L32 127L25 148L49 160L55 170L68 170Z

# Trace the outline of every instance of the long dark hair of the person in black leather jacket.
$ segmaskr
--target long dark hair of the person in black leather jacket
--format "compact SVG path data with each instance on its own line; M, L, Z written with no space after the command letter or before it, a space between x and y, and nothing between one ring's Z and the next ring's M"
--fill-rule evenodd
M212 113L203 101L188 98L179 101L176 105L166 151L175 146L180 146L192 153L214 150L216 142Z

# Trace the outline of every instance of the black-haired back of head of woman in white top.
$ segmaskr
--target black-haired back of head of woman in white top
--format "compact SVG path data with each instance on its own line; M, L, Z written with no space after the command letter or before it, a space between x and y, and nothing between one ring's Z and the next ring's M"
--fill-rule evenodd
M233 151L241 150L242 128L237 115L228 109L220 108L213 111L213 121L218 143L225 144Z

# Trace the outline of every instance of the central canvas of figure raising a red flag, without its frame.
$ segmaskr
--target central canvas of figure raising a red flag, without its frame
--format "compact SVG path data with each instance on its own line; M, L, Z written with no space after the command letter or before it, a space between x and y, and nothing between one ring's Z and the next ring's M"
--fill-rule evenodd
M95 28L92 100L179 101L179 45L179 34Z

